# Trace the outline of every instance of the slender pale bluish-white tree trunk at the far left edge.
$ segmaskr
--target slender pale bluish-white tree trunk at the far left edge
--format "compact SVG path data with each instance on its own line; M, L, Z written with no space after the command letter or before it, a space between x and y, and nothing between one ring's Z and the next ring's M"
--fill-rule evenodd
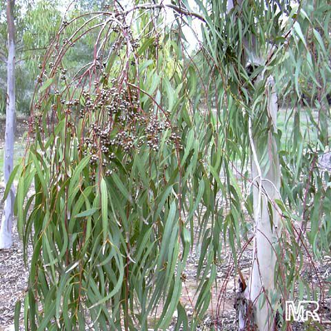
M15 118L15 39L14 39L14 0L7 1L7 26L8 26L8 61L7 61L7 107L6 107L6 134L3 161L3 175L5 185L8 182L13 168L14 157L14 131ZM12 218L14 210L14 189L5 201L3 217L0 228L0 249L10 248L12 245Z

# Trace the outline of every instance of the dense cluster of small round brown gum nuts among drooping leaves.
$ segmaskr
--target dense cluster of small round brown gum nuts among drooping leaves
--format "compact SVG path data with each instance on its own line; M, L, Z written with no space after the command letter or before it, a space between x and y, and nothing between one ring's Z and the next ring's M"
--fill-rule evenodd
M128 159L132 151L139 150L143 143L153 152L159 150L161 132L170 128L170 121L164 119L161 123L152 109L147 114L139 109L136 92L113 86L103 87L93 95L83 92L82 97L84 107L79 117L94 113L93 118L103 119L88 126L83 140L83 153L90 154L91 179L95 179L98 165L108 168L105 174L110 176L115 168L115 159ZM179 135L172 132L167 143L180 145Z

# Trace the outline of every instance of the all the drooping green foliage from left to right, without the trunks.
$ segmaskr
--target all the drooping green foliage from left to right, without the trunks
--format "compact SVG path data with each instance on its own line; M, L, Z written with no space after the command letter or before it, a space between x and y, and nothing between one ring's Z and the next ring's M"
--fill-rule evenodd
M224 244L236 277L251 241L249 119L265 162L270 134L280 150L280 302L298 286L300 298L323 300L323 287L312 288L298 270L307 256L312 263L310 248L321 257L330 247L329 177L317 168L329 143L330 7L243 1L225 14L225 1L196 3L197 57L185 53L181 31L192 23L187 1L168 26L162 6L146 4L83 15L77 28L76 19L63 21L50 46L26 157L11 177L19 173L25 256L33 245L26 330L157 330L175 310L176 330L188 330L180 297L198 240L195 330ZM63 63L85 36L95 38L94 52L68 77ZM286 109L277 132L265 97L270 77ZM272 305L283 321L279 296ZM216 318L220 311L221 299Z

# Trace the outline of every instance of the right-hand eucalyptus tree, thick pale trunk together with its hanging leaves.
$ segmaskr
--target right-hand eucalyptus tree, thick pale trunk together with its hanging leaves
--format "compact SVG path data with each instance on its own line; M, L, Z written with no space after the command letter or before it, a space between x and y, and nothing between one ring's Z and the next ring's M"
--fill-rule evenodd
M312 245L311 252L314 252L316 243L318 248L314 257L321 257L321 251L327 251L330 242L330 212L316 198L308 202L310 185L314 182L312 177L317 181L313 184L314 189L318 187L321 190L321 195L317 193L317 196L328 197L329 194L323 188L321 173L316 165L317 155L325 148L328 150L330 142L330 6L323 1L304 1L299 6L287 1L197 3L205 20L203 45L206 60L212 62L208 77L210 79L213 73L218 77L214 79L210 94L217 100L217 117L221 123L217 136L220 138L219 148L215 146L215 152L219 152L225 160L220 170L222 172L223 168L226 178L229 175L228 161L239 160L238 168L242 170L250 168L245 166L245 160L251 163L249 187L252 188L253 204L251 207L246 204L246 208L254 211L254 246L248 281L242 277L240 263L237 265L241 278L241 293L237 302L239 330L276 330L279 325L290 327L288 322L282 320L285 300L287 296L292 299L293 295L286 293L296 282L300 285L304 283L301 277L293 277L296 268L293 261L298 256L302 259L300 250L302 247L307 249L309 243ZM187 2L186 8L190 10ZM317 108L317 119L311 108L299 106L301 91L306 88L306 79L300 79L304 76L310 81L309 105L314 104ZM298 122L290 128L293 130L293 145L289 150L288 137L281 137L282 132L277 130L277 93L281 101L290 103L290 106L286 103L285 106L290 109L290 117L295 114L294 123L300 121L300 112L301 118L307 116L312 121L309 130L302 130ZM307 102L303 103L308 106ZM285 126L283 133L289 127L290 124ZM310 138L312 132L319 137L318 140ZM299 145L297 139L300 139ZM284 141L287 145L285 149ZM307 151L304 156L303 150ZM294 176L289 168L294 170ZM303 190L300 174L303 177L309 174ZM247 177L244 176L245 181ZM292 190L289 181L294 185ZM240 192L234 194L230 189L228 195L238 199ZM323 210L322 222L314 214L316 208ZM299 213L299 217L293 217L291 209ZM232 204L230 214L234 222L239 221L236 204ZM303 233L308 219L311 222L309 243ZM247 220L242 221L247 224ZM238 225L236 231L239 231ZM287 243L289 240L290 245ZM240 249L240 241L237 244ZM293 254L286 252L289 247ZM305 254L312 262L310 253L307 251ZM323 302L322 286L312 294L308 283L305 286L305 295L310 299L319 296ZM314 325L314 328L320 327Z

